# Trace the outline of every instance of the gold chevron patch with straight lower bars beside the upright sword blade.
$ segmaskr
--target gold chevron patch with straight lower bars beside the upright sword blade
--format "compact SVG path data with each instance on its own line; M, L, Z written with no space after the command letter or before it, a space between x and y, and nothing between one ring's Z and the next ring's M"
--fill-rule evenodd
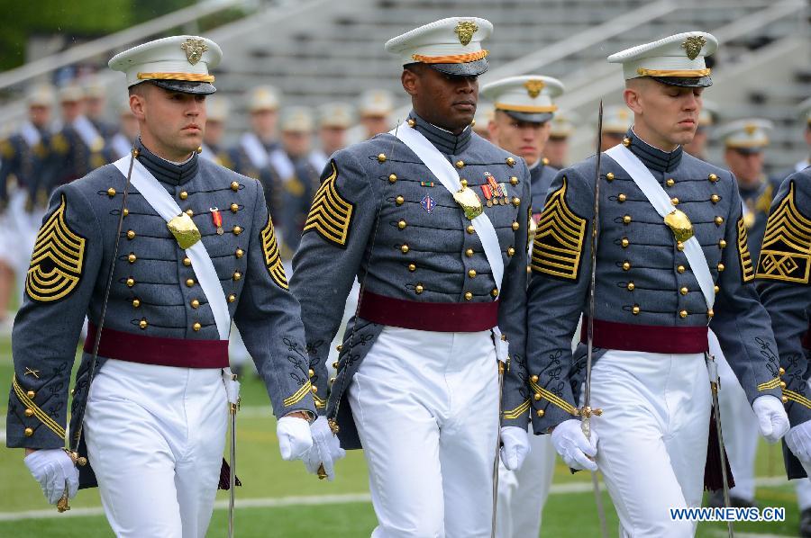
M587 220L566 204L567 180L551 193L538 220L533 241L532 270L577 280Z

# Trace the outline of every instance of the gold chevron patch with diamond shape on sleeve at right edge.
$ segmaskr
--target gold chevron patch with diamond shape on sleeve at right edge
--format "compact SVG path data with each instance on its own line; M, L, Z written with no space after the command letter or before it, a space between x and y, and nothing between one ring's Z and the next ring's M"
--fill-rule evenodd
M811 260L811 220L797 210L795 184L766 222L758 278L808 283Z

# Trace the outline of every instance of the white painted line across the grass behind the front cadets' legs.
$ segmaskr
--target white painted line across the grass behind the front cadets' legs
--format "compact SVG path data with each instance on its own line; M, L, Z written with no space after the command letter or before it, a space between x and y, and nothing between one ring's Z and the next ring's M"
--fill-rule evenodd
M755 480L755 485L761 488L779 486L787 483L781 477L763 477ZM586 493L591 491L590 482L575 482L571 484L552 484L550 495L568 495L572 493ZM295 497L276 498L238 498L237 508L278 508L278 507L301 507L301 506L322 506L322 505L347 505L353 503L369 503L371 497L369 493L344 493L342 495L307 495ZM214 503L214 510L228 509L228 501L219 500ZM50 517L87 517L103 516L104 510L101 507L73 508L68 512L59 514L56 508L50 510L27 510L23 512L0 512L0 521L20 521L23 519L47 519ZM743 534L738 534L743 537ZM747 536L767 537L769 534L748 534Z

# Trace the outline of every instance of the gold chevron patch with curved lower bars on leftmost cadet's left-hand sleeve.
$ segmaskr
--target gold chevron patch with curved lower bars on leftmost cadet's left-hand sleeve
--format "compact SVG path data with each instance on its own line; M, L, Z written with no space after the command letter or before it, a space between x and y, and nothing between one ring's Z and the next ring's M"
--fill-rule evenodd
M37 234L25 278L25 292L32 300L64 299L76 289L82 277L87 240L68 227L67 209L68 202L62 194L59 209L50 215Z

